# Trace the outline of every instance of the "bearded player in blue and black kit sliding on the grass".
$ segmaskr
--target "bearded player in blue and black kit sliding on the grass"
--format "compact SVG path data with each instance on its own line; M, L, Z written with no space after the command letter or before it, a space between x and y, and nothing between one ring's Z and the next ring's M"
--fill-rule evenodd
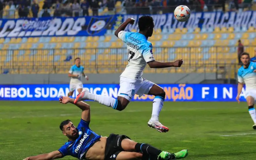
M59 101L63 104L74 104L74 99L69 97L60 97ZM56 151L27 157L24 160L50 160L64 156L73 156L80 160L171 160L188 155L187 149L175 154L169 153L146 143L137 143L125 135L110 134L108 137L102 137L89 127L90 106L84 102L77 102L76 106L82 109L77 128L70 120L60 124L60 130L68 137L68 142Z

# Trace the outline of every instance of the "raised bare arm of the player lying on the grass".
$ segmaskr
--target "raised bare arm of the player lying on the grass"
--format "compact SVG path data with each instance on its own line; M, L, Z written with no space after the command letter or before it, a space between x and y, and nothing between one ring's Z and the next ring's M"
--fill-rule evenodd
M60 97L59 101L60 103L62 104L67 104L67 103L72 103L74 104L74 100L73 98L69 98L69 97ZM82 109L82 115L81 115L81 118L86 121L86 122L90 122L91 120L91 115L90 115L90 105L83 102L83 101L80 101L80 102L77 102L75 104L78 108Z

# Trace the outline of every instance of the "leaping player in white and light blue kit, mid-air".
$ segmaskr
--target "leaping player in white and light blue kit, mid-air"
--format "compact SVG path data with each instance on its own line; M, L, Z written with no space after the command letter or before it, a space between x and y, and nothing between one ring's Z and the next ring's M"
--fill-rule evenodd
M159 132L168 132L169 128L162 125L158 116L163 107L165 92L164 90L144 78L143 69L148 64L150 68L180 67L182 60L175 62L158 62L153 57L152 44L148 37L152 36L154 21L150 16L142 16L138 21L139 32L126 32L124 29L128 24L133 24L134 19L128 18L115 31L115 35L127 44L128 65L120 76L120 89L117 99L107 96L92 94L84 91L77 95L75 103L81 100L95 100L103 105L112 107L116 110L123 110L135 94L156 96L153 100L152 117L148 121L148 126Z

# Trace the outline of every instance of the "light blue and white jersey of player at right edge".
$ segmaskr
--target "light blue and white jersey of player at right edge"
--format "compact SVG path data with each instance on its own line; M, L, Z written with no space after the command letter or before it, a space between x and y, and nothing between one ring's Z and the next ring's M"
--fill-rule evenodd
M256 73L253 71L256 69L256 63L250 62L248 68L242 66L238 69L237 79L239 83L245 83L246 91L256 89Z

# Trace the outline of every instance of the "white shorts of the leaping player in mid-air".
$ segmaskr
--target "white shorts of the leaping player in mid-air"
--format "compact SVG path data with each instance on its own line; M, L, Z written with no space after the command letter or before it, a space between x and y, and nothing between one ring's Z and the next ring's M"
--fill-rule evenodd
M148 81L145 78L135 80L120 76L120 89L117 96L124 97L131 101L135 94L139 95L139 97L143 94L148 94L153 85L153 82Z

